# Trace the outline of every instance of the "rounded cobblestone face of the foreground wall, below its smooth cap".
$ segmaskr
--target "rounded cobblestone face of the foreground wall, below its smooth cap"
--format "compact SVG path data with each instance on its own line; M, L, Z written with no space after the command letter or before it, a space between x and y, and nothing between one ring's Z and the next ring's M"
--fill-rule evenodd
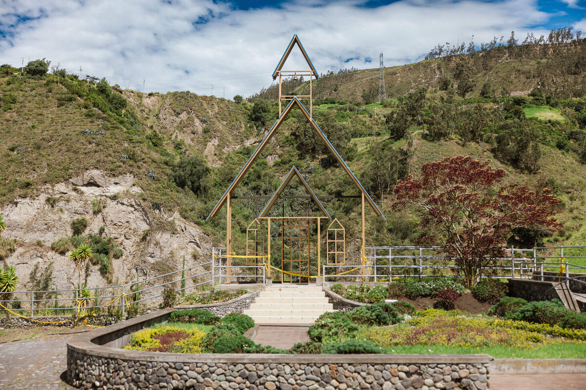
M68 350L67 379L76 387L114 390L484 390L489 386L488 363L246 363L246 355L233 357L242 357L243 363L132 361ZM316 357L328 362L333 356Z

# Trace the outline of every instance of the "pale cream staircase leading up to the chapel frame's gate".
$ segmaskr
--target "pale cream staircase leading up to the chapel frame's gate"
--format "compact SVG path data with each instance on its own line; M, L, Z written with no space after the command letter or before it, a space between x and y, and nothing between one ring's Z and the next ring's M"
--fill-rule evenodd
M271 285L243 313L257 324L311 325L323 313L333 311L321 286Z

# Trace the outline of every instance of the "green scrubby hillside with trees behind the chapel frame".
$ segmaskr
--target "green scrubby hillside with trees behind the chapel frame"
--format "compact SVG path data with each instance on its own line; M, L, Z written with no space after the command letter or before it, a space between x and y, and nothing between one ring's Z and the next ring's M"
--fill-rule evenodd
M586 101L579 90L572 90L570 98L570 92L566 96L548 89L540 80L550 77L544 73L548 61L585 45L582 41L555 50L541 45L523 56L499 52L485 55L484 60L472 54L387 68L389 99L381 103L372 93L377 69L340 72L314 84L316 122L387 216L387 223L368 216L369 241L412 244L420 233L420 216L391 210L396 180L408 173L417 175L424 163L461 154L503 168L509 182L553 188L562 199L560 234L512 237L512 243L584 244ZM455 80L454 71L464 62L470 65L466 71L473 82L462 98L458 84L464 79ZM15 69L3 70L0 205L39 194L43 186L86 170L128 173L145 191L134 196L151 203L153 210L178 210L222 243L225 213L210 223L203 219L277 118L274 89L261 91L251 102L236 103L189 91L165 95L121 91L105 80L80 81L74 75L50 74L33 80L19 77ZM532 74L536 77L526 77ZM582 77L583 73L568 70L556 76L557 85L583 87ZM305 84L291 88L301 94ZM202 161L200 157L209 169L193 162ZM263 157L234 195L272 194L291 165L318 195L357 194L301 112L289 115ZM185 170L179 164L182 160L197 169ZM182 180L185 172L191 172L189 178L195 175L195 184ZM304 194L295 185L288 191ZM324 203L329 211L338 210L347 236L358 234L356 199ZM237 252L244 251L241 238L262 206L246 199L234 203ZM284 213L306 207L289 201L280 205ZM353 249L357 245L349 243Z

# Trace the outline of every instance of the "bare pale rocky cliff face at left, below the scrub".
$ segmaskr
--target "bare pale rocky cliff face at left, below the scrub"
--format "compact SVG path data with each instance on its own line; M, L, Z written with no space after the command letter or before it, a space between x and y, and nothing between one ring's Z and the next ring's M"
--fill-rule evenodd
M68 253L53 251L51 244L60 237L71 236L71 222L81 217L87 219L84 235L97 234L103 226L103 237L111 237L124 251L122 257L112 258L113 284L135 281L137 275L144 279L180 270L184 255L188 267L209 261L210 237L178 213L153 211L150 204L145 208L142 189L134 183L131 175L106 177L100 171L88 171L70 182L45 188L36 198L15 199L0 209L8 227L2 237L16 240L15 252L5 260L16 266L21 277L18 290L32 287L29 279L35 264L43 270L51 262L52 288L69 289L77 284L77 271ZM101 202L100 212L94 213L94 199ZM91 265L87 285L108 285L99 265Z

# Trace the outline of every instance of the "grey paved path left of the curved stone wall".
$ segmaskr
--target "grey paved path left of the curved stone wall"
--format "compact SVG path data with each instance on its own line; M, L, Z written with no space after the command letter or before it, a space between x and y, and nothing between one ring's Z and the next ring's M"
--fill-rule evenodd
M71 334L0 344L0 389L74 389L60 378Z

